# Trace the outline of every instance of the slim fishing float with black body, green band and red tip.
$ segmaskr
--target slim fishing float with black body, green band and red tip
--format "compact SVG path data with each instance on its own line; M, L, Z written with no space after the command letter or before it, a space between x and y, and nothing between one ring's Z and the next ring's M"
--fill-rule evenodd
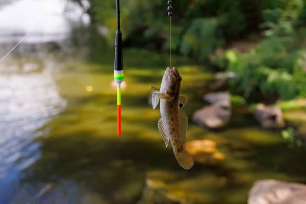
M122 33L120 31L120 8L119 0L116 0L117 7L117 31L115 39L115 66L114 80L117 83L117 135L121 135L121 83L123 82L123 58L122 58Z

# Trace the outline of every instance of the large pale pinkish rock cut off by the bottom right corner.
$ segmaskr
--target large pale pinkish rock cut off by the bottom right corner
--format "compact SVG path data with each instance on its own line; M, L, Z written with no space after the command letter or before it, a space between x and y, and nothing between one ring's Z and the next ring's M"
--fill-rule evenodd
M304 204L306 185L261 180L254 183L249 191L248 204Z

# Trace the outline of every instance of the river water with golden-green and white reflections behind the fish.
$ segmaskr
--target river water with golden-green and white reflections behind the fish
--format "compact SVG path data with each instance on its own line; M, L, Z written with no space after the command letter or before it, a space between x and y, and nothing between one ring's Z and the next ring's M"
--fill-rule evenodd
M68 1L43 18L56 2L0 5L0 19L10 19L0 20L1 58L32 31L0 62L1 204L159 203L160 194L143 194L152 181L168 199L184 197L185 203L246 203L254 181L306 182L304 151L288 148L279 133L239 114L221 131L190 120L188 140L216 141L225 160L181 169L160 137L159 111L147 103L148 88L160 86L168 57L144 49L124 50L117 137L114 48L84 31L88 16ZM210 74L183 57L173 56L172 63L182 75L189 103L184 111L191 118L203 107ZM48 190L39 194L42 189Z

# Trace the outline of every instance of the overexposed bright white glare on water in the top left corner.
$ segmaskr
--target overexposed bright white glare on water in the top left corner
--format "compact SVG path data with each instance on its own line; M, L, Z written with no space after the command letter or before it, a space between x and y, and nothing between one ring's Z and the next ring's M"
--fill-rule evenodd
M73 12L64 15L66 10ZM73 27L89 23L83 10L67 0L11 1L0 7L0 19L9 19L0 20L0 43L15 43L28 32L31 35L24 39L25 43L61 41L69 36Z

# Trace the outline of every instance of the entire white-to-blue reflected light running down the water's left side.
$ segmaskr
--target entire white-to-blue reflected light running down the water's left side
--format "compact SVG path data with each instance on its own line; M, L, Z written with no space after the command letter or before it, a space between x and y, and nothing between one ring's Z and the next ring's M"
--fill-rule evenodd
M9 19L0 20L0 58L31 31L0 62L0 203L14 194L14 189L6 191L13 188L21 170L40 157L39 144L31 144L42 134L35 130L66 107L54 81L56 61L50 51L62 49L69 43L72 29L89 21L81 8L63 0L35 24L56 2L19 0L0 5L0 19ZM67 9L73 12L64 12Z

